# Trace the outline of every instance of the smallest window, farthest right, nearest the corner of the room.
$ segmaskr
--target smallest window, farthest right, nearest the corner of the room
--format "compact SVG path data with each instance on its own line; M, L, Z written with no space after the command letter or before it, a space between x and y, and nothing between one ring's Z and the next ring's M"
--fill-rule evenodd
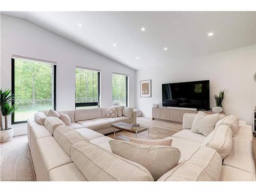
M113 74L112 104L128 106L128 76Z

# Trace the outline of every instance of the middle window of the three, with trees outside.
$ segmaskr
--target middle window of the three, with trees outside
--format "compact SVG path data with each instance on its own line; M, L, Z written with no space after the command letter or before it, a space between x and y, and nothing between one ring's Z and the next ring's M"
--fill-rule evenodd
M76 68L76 109L97 108L100 98L100 72Z

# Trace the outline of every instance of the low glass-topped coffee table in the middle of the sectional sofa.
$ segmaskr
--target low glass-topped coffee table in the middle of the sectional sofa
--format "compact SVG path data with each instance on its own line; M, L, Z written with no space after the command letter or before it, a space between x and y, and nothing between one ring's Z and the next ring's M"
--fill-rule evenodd
M116 129L120 130L120 131L134 133L136 138L137 138L137 134L138 133L147 131L148 139L150 138L150 127L140 126L139 130L133 130L132 129L133 124L131 124L131 123L123 123L123 122L113 123L110 126L112 126L114 128L114 139L116 139Z

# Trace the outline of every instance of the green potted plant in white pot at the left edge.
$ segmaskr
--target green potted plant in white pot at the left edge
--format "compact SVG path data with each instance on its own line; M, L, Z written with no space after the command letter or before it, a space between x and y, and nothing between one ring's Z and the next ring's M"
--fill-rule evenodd
M10 102L14 100L14 94L11 94L11 90L0 90L0 142L10 141L13 137L13 129L8 127L7 116L14 113L17 108L14 105L10 105ZM3 117L5 117L5 126L3 125Z

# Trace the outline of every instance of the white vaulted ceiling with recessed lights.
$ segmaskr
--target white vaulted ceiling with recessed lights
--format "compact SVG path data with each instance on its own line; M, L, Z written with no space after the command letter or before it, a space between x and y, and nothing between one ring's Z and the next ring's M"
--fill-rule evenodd
M29 20L135 70L252 45L256 39L255 12L4 14Z

